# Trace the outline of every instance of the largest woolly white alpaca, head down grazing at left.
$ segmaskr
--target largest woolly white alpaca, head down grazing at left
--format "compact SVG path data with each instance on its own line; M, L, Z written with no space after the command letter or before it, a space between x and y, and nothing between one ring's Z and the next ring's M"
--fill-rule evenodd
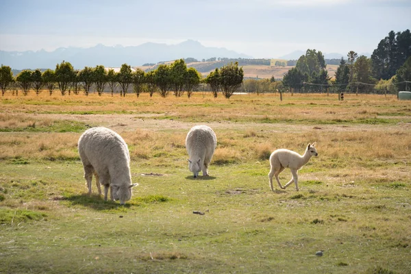
M119 134L105 127L92 127L79 138L78 147L89 195L94 174L100 195L99 184L104 186L105 201L108 188L112 201L120 200L123 205L132 198L132 188L138 184L132 184L128 147Z

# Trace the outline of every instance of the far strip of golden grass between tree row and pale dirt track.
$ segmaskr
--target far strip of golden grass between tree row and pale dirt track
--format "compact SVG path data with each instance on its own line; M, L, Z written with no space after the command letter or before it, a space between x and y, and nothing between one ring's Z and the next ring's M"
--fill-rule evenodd
M125 98L105 94L71 95L62 97L55 94L51 97L32 93L26 97L13 97L6 93L1 98L2 112L31 114L99 114L99 113L133 113L162 114L189 120L193 117L204 120L316 120L332 121L335 119L369 119L376 115L391 112L408 113L411 108L407 101L397 101L396 97L378 95L345 95L345 101L338 101L337 95L234 95L227 101L221 95L214 99L210 92L205 98L197 93L192 98L149 97L147 94L129 94ZM388 112L388 113L386 113ZM388 115L389 116L389 115Z

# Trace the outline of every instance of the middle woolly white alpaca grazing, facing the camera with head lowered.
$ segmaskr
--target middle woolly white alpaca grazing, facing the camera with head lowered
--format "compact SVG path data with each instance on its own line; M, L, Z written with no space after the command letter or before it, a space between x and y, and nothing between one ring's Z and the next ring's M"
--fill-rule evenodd
M208 166L217 146L216 134L207 125L196 125L190 129L186 137L188 152L188 169L197 178L200 171L208 176Z

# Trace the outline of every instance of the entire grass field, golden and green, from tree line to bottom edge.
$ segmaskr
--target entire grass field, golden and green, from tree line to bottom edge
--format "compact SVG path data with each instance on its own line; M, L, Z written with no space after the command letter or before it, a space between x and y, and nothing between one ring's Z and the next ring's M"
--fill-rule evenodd
M193 179L198 124L218 145ZM77 140L93 126L129 145L126 206L85 195ZM272 192L270 153L314 141L299 192ZM411 273L410 155L411 105L395 97L6 94L0 273Z

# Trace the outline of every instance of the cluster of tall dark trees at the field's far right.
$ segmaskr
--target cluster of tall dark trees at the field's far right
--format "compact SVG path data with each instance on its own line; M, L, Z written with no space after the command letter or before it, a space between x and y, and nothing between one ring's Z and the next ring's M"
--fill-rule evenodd
M384 81L396 85L398 90L406 90L411 81L410 62L410 30L397 34L392 31L379 42L371 58L349 51L347 60L341 58L333 80L328 76L321 51L308 49L306 55L301 55L297 60L295 68L284 75L283 83L296 92L303 88L316 90L318 87L334 85L338 91L355 90L364 93L371 92L376 84L384 84Z

